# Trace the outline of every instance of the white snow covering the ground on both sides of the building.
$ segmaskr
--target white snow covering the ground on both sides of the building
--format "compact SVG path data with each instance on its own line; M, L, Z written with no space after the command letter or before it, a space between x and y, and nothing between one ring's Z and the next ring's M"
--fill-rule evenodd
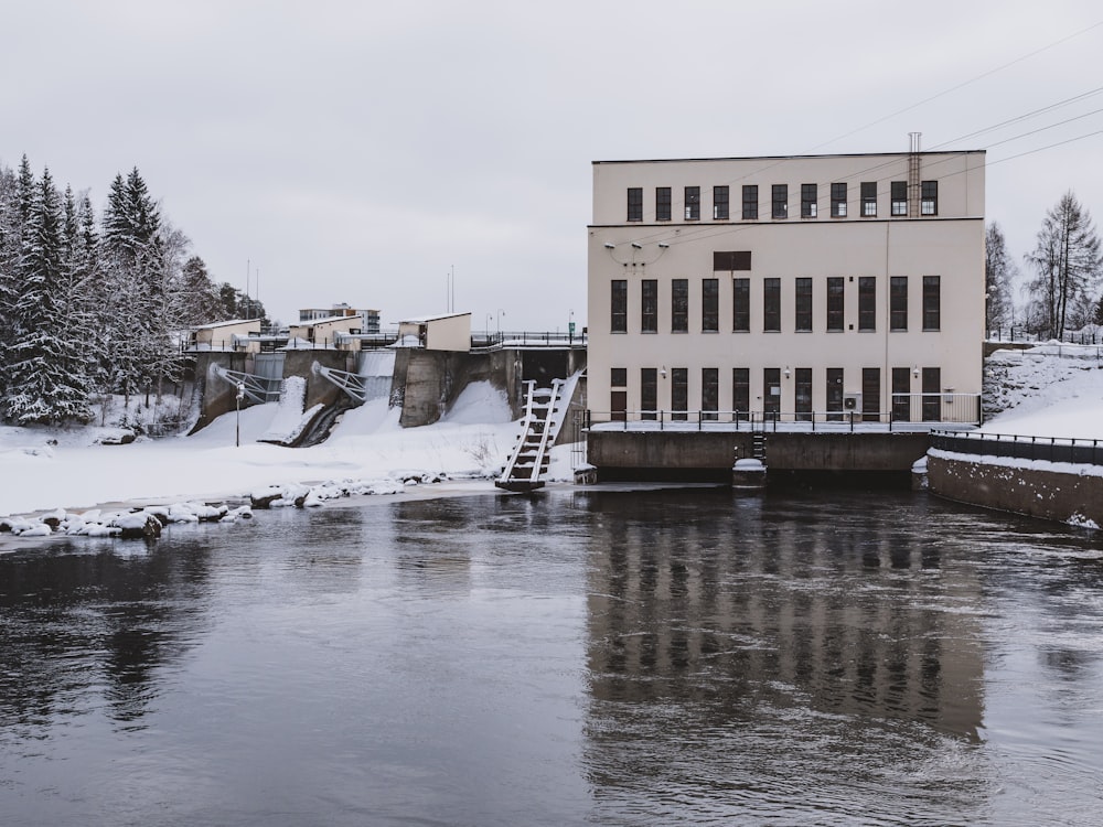
M1037 437L1103 439L1103 354L1099 347L1041 345L1000 352L986 370L1002 409L984 430ZM277 404L218 418L193 437L98 444L117 429L0 427L0 516L92 508L108 503L214 502L290 483L353 481L376 490L442 474L493 490L520 426L489 383L469 386L436 425L400 428L386 400L347 411L329 440L290 449L257 442L285 425ZM275 426L275 428L274 428ZM572 479L570 450L553 450L549 479ZM368 486L370 487L370 486ZM400 490L400 487L398 488Z

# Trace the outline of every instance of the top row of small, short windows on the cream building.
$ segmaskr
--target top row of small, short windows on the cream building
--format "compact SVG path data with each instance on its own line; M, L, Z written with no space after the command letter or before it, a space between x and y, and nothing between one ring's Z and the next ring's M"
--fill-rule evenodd
M742 218L743 221L758 221L759 217L759 186L758 184L743 184L742 189ZM923 181L920 183L919 193L920 215L939 214L939 182ZM713 221L730 221L730 191L727 185L713 187ZM859 184L859 215L863 218L877 217L877 182L863 181ZM700 221L700 187L685 187L683 204L685 205L685 219L687 222ZM801 184L801 217L817 217L820 204L820 185ZM831 217L846 218L847 214L847 184L835 183L831 185ZM673 215L673 203L671 200L671 187L655 187L655 221L668 222ZM908 182L892 181L889 185L889 215L908 215ZM770 217L789 217L789 184L773 184L770 189ZM630 222L643 221L643 187L628 187L628 219Z

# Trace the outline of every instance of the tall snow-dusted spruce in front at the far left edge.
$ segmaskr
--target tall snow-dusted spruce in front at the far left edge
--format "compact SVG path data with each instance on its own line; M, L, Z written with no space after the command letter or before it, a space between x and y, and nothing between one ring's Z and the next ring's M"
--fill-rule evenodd
M20 425L90 417L86 378L68 369L64 213L49 169L33 189L18 265L4 417Z

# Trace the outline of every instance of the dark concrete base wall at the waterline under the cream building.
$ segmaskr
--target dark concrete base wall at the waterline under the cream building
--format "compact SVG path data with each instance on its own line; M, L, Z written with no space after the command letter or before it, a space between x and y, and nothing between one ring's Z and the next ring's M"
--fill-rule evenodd
M726 431L590 431L587 461L600 469L730 469L752 455L752 434ZM769 433L765 463L779 471L909 471L925 433Z

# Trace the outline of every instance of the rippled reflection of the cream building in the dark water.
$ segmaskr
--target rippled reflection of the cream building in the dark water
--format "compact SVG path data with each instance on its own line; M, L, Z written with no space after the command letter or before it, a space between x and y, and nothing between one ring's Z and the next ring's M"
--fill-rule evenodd
M589 495L596 782L826 788L855 756L844 772L976 742L978 576L941 558L924 506L779 500Z

